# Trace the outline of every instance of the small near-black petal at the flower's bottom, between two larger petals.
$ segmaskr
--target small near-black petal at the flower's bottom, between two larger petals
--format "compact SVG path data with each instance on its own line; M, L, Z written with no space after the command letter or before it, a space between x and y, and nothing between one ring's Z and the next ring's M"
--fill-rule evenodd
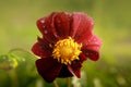
M71 77L71 76L73 76L72 73L68 70L68 66L63 64L58 77Z

